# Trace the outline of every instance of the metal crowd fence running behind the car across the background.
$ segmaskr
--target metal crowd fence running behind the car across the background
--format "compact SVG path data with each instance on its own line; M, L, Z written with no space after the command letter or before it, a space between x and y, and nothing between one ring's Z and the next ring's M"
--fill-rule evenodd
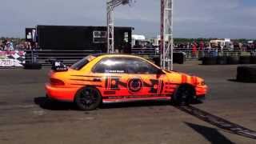
M203 57L214 56L244 56L255 55L254 51L243 50L218 50L218 49L203 49L192 50L175 48L174 53L183 53L186 60L198 60ZM59 60L66 65L71 65L74 62L86 57L90 54L102 54L101 50L26 50L26 62L38 62L42 66L50 66L49 60ZM158 48L132 48L131 54L141 56L149 60L158 59L160 52Z

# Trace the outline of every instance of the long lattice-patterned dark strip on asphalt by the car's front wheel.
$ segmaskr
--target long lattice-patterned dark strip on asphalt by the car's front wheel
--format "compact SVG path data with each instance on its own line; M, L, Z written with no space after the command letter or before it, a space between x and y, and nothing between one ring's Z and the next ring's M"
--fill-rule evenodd
M227 130L231 134L238 134L243 137L256 139L256 131L247 129L233 122L229 122L224 118L219 118L218 116L209 114L206 111L199 110L194 106L177 106L176 108L186 112L187 114L191 114L202 121L208 122L211 125L217 126L223 130Z

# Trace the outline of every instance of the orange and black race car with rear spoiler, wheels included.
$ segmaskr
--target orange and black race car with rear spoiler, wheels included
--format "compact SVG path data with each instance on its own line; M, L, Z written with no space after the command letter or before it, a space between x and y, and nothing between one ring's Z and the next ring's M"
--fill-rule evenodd
M193 98L204 98L207 91L202 78L162 70L132 55L89 55L69 68L55 63L46 83L46 96L75 102L81 110L94 110L102 102L137 100L171 99L183 105Z

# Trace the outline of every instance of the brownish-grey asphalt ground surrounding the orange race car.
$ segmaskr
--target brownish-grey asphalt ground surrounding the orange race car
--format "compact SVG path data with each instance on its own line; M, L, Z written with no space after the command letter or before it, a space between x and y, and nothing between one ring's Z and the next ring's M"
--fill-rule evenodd
M49 69L0 69L0 143L256 143L254 137L216 125L221 118L248 133L256 130L256 84L235 82L236 68L175 65L175 70L205 78L210 87L206 100L188 110L170 102L131 102L94 111L46 102Z

